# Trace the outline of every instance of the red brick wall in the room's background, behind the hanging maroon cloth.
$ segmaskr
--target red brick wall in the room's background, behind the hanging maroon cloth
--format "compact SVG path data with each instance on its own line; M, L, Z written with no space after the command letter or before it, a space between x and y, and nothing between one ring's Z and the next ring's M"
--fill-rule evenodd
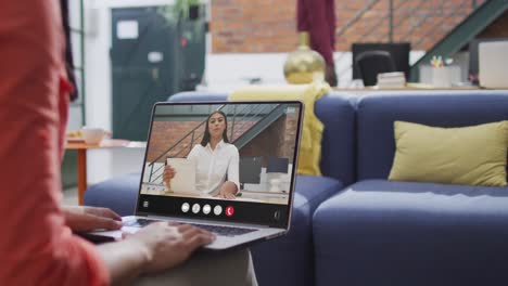
M318 0L313 0L318 1ZM353 42L389 40L389 0L377 1L350 28L343 27L372 0L335 0L335 50ZM484 0L477 1L477 4ZM296 0L213 0L214 53L277 53L296 47ZM414 50L428 50L472 11L470 0L395 0L394 41L410 41Z

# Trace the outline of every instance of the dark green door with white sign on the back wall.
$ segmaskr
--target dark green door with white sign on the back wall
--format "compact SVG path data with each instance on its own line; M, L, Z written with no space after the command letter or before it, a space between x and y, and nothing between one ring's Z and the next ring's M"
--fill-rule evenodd
M175 30L155 8L113 9L114 138L145 141L152 105L174 91Z

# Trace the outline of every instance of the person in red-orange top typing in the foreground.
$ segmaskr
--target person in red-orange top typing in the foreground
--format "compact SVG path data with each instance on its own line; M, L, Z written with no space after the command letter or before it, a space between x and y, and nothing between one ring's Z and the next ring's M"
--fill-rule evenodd
M174 269L211 243L206 231L162 222L99 246L73 234L122 223L109 209L60 206L72 86L59 1L0 0L0 285L124 284Z

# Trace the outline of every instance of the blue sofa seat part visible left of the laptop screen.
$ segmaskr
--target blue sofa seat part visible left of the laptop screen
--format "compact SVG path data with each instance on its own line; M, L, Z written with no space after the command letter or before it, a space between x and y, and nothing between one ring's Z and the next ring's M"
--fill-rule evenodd
M120 216L131 216L136 210L140 178L140 173L128 173L91 185L85 192L85 205L106 207Z

